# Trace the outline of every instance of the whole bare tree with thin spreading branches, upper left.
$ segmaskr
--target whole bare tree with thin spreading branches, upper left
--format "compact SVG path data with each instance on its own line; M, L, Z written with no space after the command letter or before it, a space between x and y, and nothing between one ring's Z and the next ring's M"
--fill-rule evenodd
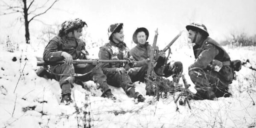
M10 15L14 13L20 13L22 16L17 17L25 25L25 38L26 43L30 42L29 35L29 23L32 20L36 20L35 17L45 14L58 0L37 0L39 3L35 3L35 0L1 0L4 12L0 15Z

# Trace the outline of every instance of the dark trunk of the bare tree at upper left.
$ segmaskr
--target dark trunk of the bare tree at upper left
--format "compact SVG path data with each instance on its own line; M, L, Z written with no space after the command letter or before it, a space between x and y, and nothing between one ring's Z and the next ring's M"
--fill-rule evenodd
M23 8L23 12L24 12L24 20L25 20L25 38L26 38L26 43L29 44L30 43L30 35L29 35L29 21L28 21L28 9L26 6L26 0L23 0L24 3L24 8Z

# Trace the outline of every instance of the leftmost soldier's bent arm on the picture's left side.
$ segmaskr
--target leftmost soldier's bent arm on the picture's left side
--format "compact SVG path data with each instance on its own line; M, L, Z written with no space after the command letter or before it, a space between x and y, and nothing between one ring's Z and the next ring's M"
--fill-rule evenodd
M58 39L53 38L44 49L43 59L45 62L61 61L64 58L61 56L63 51L58 51Z

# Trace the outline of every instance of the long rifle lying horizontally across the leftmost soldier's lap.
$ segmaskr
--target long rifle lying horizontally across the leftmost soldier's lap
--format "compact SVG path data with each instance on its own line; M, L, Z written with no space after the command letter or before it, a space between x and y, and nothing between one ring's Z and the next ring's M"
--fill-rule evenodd
M93 64L95 61L98 63L126 63L130 62L128 60L73 60L72 64ZM38 62L37 66L44 66L44 65L58 65L64 64L65 61L57 61L57 62Z

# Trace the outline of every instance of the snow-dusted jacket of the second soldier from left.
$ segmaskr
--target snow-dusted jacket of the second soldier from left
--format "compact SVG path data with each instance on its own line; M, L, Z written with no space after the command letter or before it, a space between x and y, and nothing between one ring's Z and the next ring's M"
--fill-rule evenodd
M109 41L109 43L100 47L99 50L99 60L128 60L133 59L129 54L129 48L126 47L124 42L120 42L119 44L114 43L113 41ZM133 67L140 67L145 65L145 60L143 61L135 61ZM105 63L102 64L102 71L107 76L109 74L115 74L116 68L124 67L125 64L122 63Z

